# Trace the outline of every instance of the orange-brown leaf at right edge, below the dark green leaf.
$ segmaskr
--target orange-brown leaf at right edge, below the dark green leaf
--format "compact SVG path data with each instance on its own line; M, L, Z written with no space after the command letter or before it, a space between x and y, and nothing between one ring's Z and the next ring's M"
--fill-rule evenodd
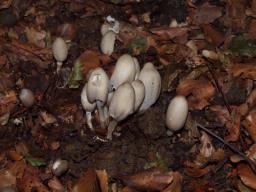
M235 64L231 69L234 77L248 78L256 80L256 65L252 64Z

